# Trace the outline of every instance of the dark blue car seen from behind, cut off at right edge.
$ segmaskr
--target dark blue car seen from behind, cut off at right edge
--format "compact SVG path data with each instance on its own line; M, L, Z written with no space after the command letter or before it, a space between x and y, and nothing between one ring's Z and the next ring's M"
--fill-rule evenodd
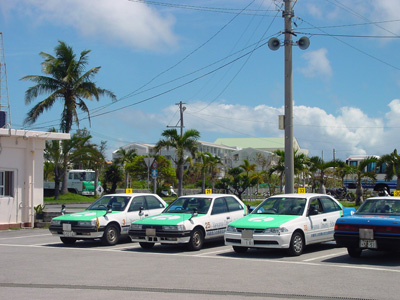
M362 250L400 250L400 197L366 199L351 217L335 225L335 240L351 257Z

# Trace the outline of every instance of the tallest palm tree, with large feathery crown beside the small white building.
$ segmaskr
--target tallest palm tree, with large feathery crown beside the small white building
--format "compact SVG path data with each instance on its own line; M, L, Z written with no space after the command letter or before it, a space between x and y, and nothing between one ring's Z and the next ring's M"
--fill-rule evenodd
M100 96L108 96L116 100L116 96L109 90L99 88L93 81L94 76L101 67L94 67L85 71L88 64L88 54L90 50L82 51L77 59L73 49L66 43L59 41L55 47L55 56L41 52L43 57L42 71L43 75L28 75L21 80L29 80L35 83L25 92L25 104L30 104L39 95L45 94L43 100L37 103L29 110L24 124L31 125L36 122L38 117L45 111L53 107L59 100L62 102L63 111L61 112L60 130L69 133L72 124L76 123L79 127L78 111L87 113L90 124L89 109L84 100L96 99ZM68 155L64 153L64 155ZM68 158L64 158L67 162ZM66 165L63 166L66 169ZM64 173L63 182L67 182L67 174ZM62 193L67 190L63 187Z

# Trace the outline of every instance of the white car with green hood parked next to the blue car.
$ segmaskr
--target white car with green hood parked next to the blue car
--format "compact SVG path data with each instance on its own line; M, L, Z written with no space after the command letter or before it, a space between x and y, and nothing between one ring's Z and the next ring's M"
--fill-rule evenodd
M301 255L305 245L333 240L335 222L355 209L325 194L285 194L264 200L251 214L229 224L225 244L237 253L249 248L287 249Z

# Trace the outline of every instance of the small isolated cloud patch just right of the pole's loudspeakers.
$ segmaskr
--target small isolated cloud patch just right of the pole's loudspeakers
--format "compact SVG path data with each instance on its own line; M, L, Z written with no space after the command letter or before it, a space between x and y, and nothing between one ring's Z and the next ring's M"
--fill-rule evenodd
M332 68L327 58L328 50L325 48L308 51L302 55L307 65L300 68L300 72L310 78L317 76L330 77L332 75Z

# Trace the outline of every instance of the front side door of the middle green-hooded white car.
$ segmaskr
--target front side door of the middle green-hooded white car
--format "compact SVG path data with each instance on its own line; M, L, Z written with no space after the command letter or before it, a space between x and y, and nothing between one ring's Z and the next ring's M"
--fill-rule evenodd
M225 197L214 199L209 220L206 222L206 237L222 237L230 222L231 214Z

